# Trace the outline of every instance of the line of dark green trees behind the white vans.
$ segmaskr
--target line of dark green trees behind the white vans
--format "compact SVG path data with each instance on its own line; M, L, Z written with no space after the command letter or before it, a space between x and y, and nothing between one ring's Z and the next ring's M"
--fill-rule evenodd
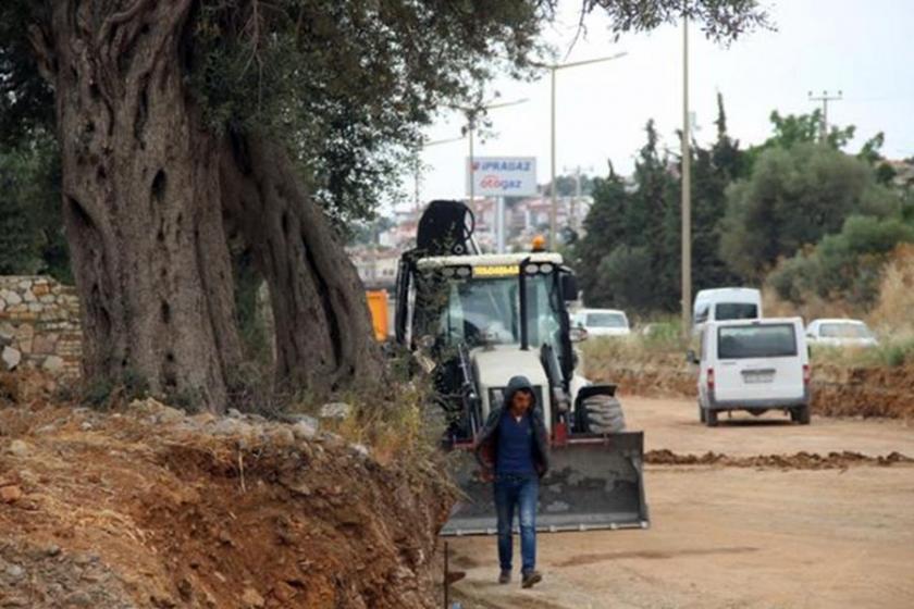
M773 133L742 148L717 98L716 138L692 142L693 290L768 284L785 299L839 298L867 307L886 256L914 241L914 189L896 184L877 134L843 151L853 126L773 112ZM630 178L593 181L585 234L571 253L588 306L637 314L678 310L681 295L681 156L649 121ZM914 159L911 160L914 164Z

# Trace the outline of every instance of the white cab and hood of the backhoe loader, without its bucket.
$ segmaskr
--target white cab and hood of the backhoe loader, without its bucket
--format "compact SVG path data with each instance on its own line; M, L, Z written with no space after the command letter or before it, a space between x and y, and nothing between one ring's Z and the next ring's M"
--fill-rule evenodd
M559 254L430 257L411 277L398 316L405 343L429 346L441 363L436 388L450 396L448 412L465 412L465 381L478 388L469 417L452 420L455 440L472 439L514 374L533 383L547 422L568 410L575 355L566 301L577 287Z

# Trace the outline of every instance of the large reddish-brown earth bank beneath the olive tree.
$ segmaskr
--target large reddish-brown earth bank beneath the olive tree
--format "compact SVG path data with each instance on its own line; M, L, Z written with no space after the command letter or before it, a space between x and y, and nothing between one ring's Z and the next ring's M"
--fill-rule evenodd
M450 498L304 420L0 406L0 606L431 607Z

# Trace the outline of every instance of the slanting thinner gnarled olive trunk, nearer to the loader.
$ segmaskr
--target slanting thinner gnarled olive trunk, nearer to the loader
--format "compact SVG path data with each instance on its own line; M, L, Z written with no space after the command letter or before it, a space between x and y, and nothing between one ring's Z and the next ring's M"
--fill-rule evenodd
M279 384L326 395L380 384L365 290L286 150L260 136L226 138L223 202L270 288Z

